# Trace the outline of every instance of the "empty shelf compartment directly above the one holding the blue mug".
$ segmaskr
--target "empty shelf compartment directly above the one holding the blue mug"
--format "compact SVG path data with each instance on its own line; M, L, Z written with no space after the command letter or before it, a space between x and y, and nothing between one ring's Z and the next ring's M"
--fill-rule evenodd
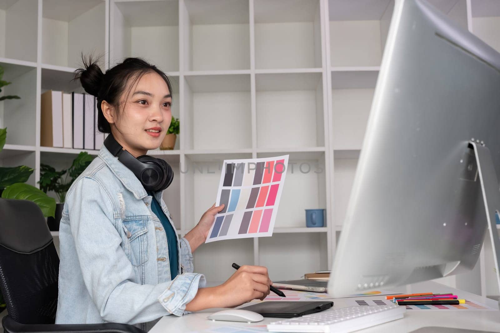
M256 74L257 147L324 146L321 73Z

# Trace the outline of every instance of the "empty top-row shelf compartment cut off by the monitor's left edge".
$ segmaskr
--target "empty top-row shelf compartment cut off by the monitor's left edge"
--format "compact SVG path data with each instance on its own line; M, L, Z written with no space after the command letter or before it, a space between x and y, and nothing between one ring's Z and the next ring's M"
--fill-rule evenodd
M379 66L392 0L328 0L331 66Z

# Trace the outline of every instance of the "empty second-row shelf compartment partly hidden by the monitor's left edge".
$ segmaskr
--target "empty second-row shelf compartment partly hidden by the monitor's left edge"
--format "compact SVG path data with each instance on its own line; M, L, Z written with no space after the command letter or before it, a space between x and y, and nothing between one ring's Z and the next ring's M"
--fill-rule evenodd
M334 150L358 150L371 109L378 71L332 71Z

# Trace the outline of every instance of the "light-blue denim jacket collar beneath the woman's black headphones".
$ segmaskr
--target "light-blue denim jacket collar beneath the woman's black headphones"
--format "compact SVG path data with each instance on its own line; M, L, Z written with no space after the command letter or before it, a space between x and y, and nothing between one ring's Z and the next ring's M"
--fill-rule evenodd
M146 190L142 186L141 182L135 177L132 171L128 169L123 163L118 161L117 157L114 157L107 148L102 145L99 150L98 156L106 163L106 165L111 169L111 172L120 180L123 186L130 192L136 199L143 199L148 196Z

